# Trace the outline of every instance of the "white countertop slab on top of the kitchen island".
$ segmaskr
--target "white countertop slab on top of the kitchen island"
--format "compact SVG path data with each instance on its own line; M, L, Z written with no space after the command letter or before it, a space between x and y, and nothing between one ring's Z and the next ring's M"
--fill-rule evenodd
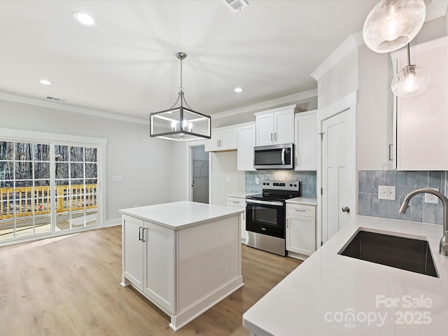
M188 226L205 223L218 218L242 214L245 209L221 207L197 202L172 202L121 209L120 213L144 221L150 221L165 228L179 230Z

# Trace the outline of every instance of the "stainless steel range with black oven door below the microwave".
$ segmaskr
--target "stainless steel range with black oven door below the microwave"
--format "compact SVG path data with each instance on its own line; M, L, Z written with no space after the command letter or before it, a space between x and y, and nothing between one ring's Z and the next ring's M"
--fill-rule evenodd
M300 196L299 181L262 181L262 194L246 197L246 245L286 255L286 200Z

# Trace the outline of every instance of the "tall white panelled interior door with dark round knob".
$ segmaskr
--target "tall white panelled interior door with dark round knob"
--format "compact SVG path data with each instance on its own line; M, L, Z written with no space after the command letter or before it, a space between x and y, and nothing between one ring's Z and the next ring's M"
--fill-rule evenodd
M356 215L354 106L321 120L322 241Z

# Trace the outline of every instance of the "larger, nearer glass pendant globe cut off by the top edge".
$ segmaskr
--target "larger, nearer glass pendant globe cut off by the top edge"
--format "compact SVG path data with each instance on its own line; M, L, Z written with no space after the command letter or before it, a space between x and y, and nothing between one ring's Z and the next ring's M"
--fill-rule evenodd
M418 34L426 17L423 0L382 0L365 19L365 45L374 52L391 52Z

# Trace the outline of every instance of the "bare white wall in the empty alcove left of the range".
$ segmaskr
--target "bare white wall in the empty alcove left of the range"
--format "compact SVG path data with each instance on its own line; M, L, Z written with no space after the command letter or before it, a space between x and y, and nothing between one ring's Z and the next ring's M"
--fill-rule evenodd
M237 151L212 153L211 172L210 204L226 206L228 194L244 193L246 190L245 172L237 170Z

